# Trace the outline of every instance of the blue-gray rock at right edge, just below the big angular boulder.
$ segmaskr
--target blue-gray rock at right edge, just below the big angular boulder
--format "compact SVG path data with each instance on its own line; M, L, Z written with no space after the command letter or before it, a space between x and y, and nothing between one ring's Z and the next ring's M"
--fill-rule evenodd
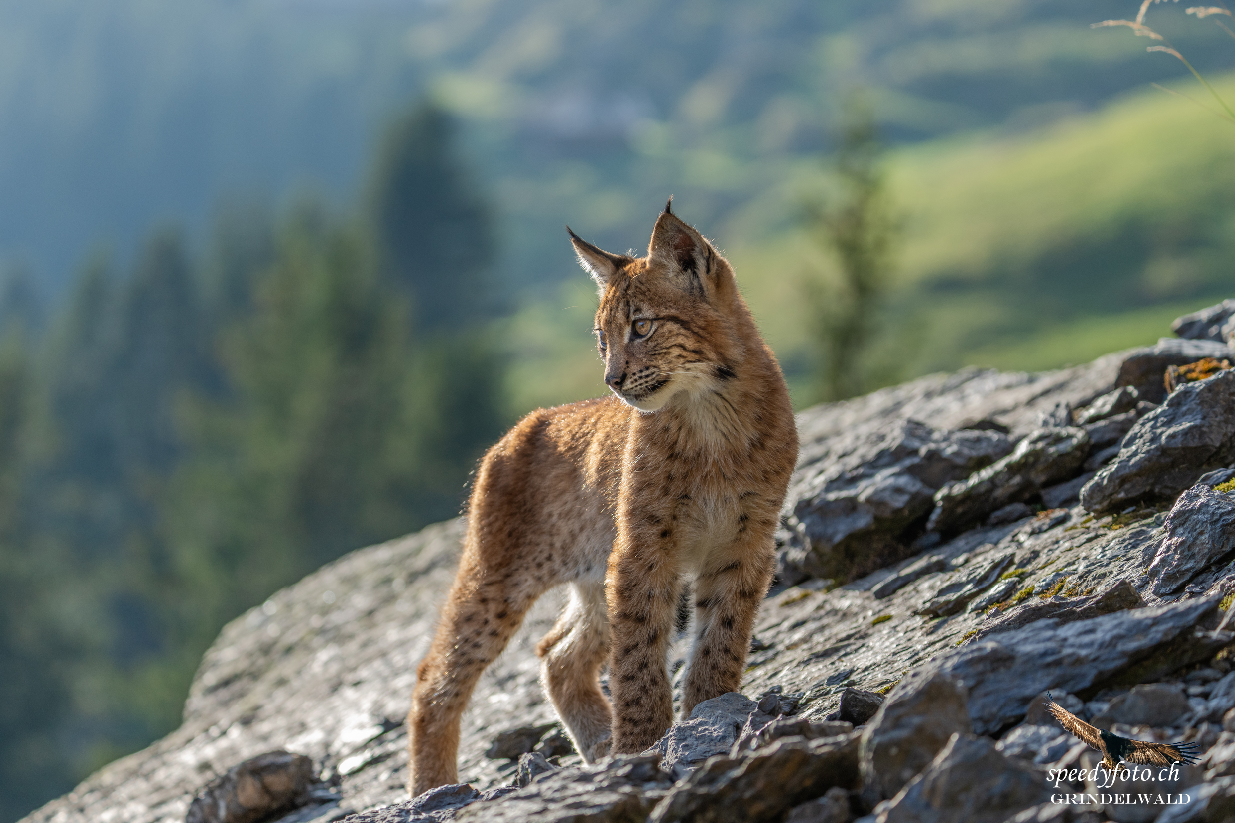
M1195 485L1179 495L1166 518L1166 539L1146 574L1158 597L1183 589L1197 573L1235 552L1235 500Z

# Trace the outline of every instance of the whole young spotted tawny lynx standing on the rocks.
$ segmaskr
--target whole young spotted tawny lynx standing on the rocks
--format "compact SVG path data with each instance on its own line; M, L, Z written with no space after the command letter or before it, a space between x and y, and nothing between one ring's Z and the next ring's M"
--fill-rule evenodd
M615 396L534 411L484 455L416 672L412 795L457 781L477 677L551 587L569 584L571 600L536 649L542 682L592 763L642 751L673 723L666 653L685 581L697 613L683 717L741 684L772 579L798 433L729 262L669 206L646 258L571 241L600 289L597 344Z

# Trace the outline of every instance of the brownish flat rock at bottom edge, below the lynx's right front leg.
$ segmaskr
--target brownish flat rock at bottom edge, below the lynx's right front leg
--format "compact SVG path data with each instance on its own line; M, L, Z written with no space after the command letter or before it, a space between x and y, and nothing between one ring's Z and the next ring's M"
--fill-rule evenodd
M679 781L648 823L774 821L829 788L856 788L858 735L783 738L739 758L713 758Z

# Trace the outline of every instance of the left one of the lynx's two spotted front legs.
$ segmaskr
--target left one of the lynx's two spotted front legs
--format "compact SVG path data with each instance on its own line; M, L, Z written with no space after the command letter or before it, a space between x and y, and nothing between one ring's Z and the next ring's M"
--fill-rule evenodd
M609 693L614 703L613 753L635 754L673 724L673 689L666 665L677 618L679 571L672 538L657 532L643 548L619 539L609 559L606 590L613 631Z

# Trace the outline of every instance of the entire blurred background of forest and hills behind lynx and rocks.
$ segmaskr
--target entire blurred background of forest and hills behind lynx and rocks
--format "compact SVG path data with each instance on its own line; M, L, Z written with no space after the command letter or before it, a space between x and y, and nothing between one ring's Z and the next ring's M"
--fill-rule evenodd
M1135 5L0 4L0 823L173 729L226 621L603 391L566 222L638 249L676 195L799 405L1231 296L1235 139L1089 30ZM1235 97L1225 33L1151 15Z

